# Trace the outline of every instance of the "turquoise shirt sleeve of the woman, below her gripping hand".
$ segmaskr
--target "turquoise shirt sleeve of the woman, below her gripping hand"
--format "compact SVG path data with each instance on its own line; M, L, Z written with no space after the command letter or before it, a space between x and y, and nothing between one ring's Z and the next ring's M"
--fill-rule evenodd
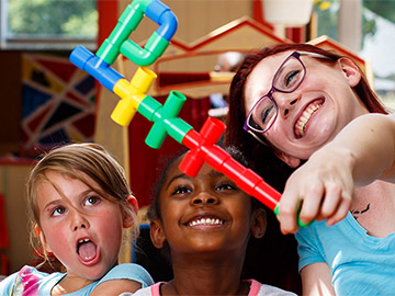
M317 262L326 262L324 249L318 241L315 224L300 228L295 234L297 240L297 253L300 257L298 270Z

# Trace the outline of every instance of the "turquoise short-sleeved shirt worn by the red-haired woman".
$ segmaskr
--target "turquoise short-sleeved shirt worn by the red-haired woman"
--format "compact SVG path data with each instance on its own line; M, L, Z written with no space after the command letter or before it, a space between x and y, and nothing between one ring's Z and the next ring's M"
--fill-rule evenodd
M334 226L315 221L295 237L300 270L327 263L338 296L395 295L395 234L371 237L348 213Z

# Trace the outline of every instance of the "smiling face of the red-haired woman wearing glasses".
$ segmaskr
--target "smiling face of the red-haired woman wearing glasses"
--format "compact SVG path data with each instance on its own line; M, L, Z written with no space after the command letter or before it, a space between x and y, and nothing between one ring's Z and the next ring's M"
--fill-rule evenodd
M264 58L251 71L245 88L247 112L270 91L276 70L292 53ZM292 93L275 91L272 94L279 113L264 134L279 150L276 155L291 167L298 166L298 159L307 159L331 140L350 121L368 113L352 90L361 76L351 60L342 58L330 65L304 55L301 60L306 67L306 76ZM284 156L297 161L290 162Z

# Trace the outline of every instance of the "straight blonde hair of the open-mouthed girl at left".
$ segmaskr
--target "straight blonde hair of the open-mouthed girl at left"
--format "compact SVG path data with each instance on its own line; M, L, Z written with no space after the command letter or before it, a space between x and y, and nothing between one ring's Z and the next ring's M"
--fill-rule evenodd
M71 144L55 148L46 153L30 173L27 181L27 209L30 238L35 250L43 247L36 231L37 227L41 229L36 187L41 181L48 181L45 173L49 170L71 179L80 180L108 201L117 203L123 215L133 218L133 238L137 238L137 214L126 201L132 195L132 191L125 175L125 170L109 151L98 144ZM99 187L92 186L86 179L86 175L92 179ZM46 253L44 253L44 258L48 259Z

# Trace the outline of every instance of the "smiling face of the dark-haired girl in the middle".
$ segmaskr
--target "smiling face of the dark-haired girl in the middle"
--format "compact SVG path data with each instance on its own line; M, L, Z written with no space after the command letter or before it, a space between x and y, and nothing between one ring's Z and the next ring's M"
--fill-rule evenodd
M154 221L154 228L155 224L161 228L154 237L161 240L154 238L154 243L166 240L172 257L176 253L245 252L250 234L256 235L257 227L261 235L264 232L263 209L256 215L251 210L251 197L206 163L195 178L185 175L178 168L181 159L168 169L160 190L161 221ZM160 243L157 247L161 247Z

